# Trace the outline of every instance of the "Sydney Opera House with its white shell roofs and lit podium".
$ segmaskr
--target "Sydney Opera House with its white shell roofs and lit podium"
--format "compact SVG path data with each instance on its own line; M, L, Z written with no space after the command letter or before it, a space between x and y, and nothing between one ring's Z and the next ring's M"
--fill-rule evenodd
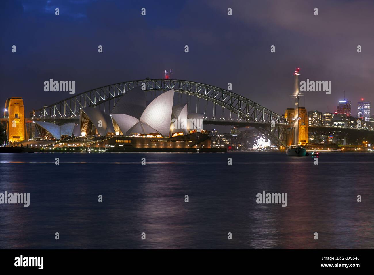
M188 113L188 105L174 105L174 89L147 104L144 91L134 88L120 97L110 114L99 108L80 109L79 124L35 122L39 138L82 137L82 147L182 149L210 148L203 114ZM80 140L82 140L80 138ZM61 143L60 143L61 144ZM77 146L78 143L73 143Z

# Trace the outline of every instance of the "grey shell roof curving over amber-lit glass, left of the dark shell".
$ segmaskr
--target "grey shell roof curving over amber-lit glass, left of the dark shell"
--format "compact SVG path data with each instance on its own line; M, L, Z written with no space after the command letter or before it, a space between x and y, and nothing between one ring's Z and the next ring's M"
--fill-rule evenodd
M80 120L82 120L82 112L84 112L102 137L105 137L108 132L114 133L113 123L108 114L105 114L100 109L92 107L82 108L80 111ZM99 125L101 125L101 127L99 127Z

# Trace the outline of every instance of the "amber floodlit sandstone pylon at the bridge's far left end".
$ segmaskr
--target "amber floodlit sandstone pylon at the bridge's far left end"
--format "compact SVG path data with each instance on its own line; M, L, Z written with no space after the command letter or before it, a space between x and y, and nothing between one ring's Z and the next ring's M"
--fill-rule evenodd
M8 140L25 140L25 108L22 97L11 97L5 101L4 117Z

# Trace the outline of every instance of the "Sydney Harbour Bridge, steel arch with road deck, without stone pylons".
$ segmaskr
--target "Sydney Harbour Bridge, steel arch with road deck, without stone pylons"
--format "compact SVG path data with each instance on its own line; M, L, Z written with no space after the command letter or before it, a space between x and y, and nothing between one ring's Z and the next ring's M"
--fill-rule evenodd
M150 100L162 92L174 89L178 104L188 103L188 113L203 113L205 125L254 127L276 146L287 147L287 135L291 132L292 125L284 116L231 90L189 80L146 78L102 86L43 106L34 110L30 116L33 120L59 124L79 122L79 111L84 107L99 108L110 114L122 95L139 86ZM368 131L333 126L318 126L315 130L326 133Z

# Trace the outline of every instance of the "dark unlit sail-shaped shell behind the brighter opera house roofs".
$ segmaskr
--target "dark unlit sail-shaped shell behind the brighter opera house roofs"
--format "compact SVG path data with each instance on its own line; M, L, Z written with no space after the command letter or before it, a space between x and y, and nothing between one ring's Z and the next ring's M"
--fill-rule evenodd
M136 87L120 97L120 100L114 106L111 114L127 114L140 119L146 107L147 103L145 101L144 91L141 87ZM117 120L116 122L119 123Z

